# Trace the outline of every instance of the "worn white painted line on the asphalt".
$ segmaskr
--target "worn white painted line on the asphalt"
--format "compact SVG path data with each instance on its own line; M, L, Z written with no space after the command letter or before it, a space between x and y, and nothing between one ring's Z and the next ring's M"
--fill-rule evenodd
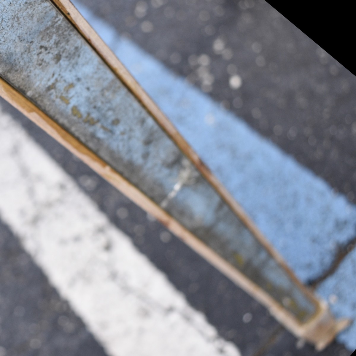
M109 355L240 355L1 108L0 197L0 218Z

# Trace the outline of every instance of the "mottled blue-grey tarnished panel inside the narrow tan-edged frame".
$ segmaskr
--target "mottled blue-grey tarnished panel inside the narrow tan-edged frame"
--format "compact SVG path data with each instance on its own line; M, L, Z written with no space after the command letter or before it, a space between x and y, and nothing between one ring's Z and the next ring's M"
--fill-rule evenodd
M318 304L49 0L0 2L0 77L300 323Z

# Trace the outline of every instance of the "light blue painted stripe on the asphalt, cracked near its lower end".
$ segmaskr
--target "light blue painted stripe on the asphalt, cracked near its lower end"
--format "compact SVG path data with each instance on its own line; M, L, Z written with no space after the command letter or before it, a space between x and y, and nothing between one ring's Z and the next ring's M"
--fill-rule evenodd
M304 282L320 276L333 261L335 246L355 236L356 207L240 118L75 4L297 276ZM355 272L355 263L352 266ZM342 271L344 284L337 284L336 275L330 277L319 288L320 295L328 299L336 284L340 293L348 284L355 286L351 272L348 267ZM348 290L348 297L332 307L338 316L356 318L356 292ZM356 326L340 340L354 349L352 335Z

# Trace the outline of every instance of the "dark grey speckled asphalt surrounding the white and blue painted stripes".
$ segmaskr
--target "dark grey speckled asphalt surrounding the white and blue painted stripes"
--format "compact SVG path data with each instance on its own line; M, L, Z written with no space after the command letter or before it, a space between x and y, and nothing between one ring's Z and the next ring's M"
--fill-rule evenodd
M265 1L81 0L80 3L120 36L129 38L310 169L335 193L341 193L350 203L356 202L356 78ZM191 318L195 318L194 311L203 313L206 325L217 332L214 340L220 342L216 346L206 337L205 341L199 341L201 344L197 341L200 350L204 347L208 350L205 354L229 354L231 345L237 350L231 351L231 355L240 352L242 356L351 354L353 350L340 341L317 353L310 345L295 339L265 308L52 138L3 100L0 105L1 115L9 114L11 120L25 129L29 139L42 147L53 164L77 183L76 189L97 206L97 214L104 214L110 226L126 234L136 250L157 271L163 272L167 283L183 293L192 308ZM8 151L15 162L21 161L16 156L16 149L21 150L20 142L19 139ZM30 177L30 173L23 174ZM34 177L40 177L40 173L36 174ZM36 182L31 184L30 191L35 189ZM31 197L32 193L28 194ZM16 203L22 206L20 200ZM101 334L100 329L105 327L94 325L99 316L87 318L86 309L75 304L80 303L74 297L72 302L70 292L66 294L63 287L62 293L52 286L56 284L51 282L53 278L62 286L60 274L56 279L54 269L47 271L45 257L36 259L37 255L46 256L45 252L41 255L45 245L39 245L39 252L35 247L31 250L26 238L21 237L25 234L21 227L15 227L25 223L20 218L12 219L10 213L8 217L1 209L0 203L0 356L116 355L118 346L110 346L114 341L104 331ZM45 211L41 214L45 215ZM31 229L36 221L26 224ZM108 246L106 249L110 251ZM335 256L337 251L344 251L337 255L338 263L350 255L352 248L341 251L338 245L334 246ZM321 281L335 271L331 268L327 272L306 282ZM89 287L85 290L91 293ZM149 312L141 312L141 319L145 313ZM143 320L140 318L133 320L139 324ZM184 324L184 320L179 323L188 328L190 324ZM202 334L208 328L206 325L200 326ZM123 336L125 333L120 335L129 339ZM131 344L136 340L139 339L132 339ZM161 350L155 349L157 342L147 344L146 351L152 349L157 354ZM193 345L194 340L191 342ZM179 347L177 344L177 350ZM189 351L194 350L189 347L181 352L197 353ZM146 351L143 348L136 354L150 355ZM135 349L122 349L119 354L129 353L135 353ZM175 355L174 351L166 354Z

